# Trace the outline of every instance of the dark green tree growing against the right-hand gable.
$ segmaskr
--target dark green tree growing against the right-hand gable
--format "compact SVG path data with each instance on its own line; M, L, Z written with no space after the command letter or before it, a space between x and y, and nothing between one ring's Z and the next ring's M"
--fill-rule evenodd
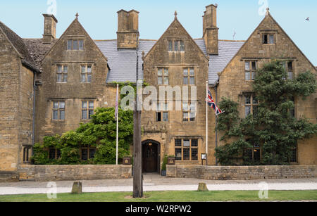
M305 118L296 119L293 98L306 99L316 91L316 78L311 72L302 72L294 80L285 80L287 72L280 61L271 61L257 71L253 91L259 99L256 115L240 119L238 103L223 98L219 106L225 113L219 115L218 131L223 132L224 146L216 148L216 157L222 165L288 165L292 148L299 139L316 136L317 125ZM233 141L232 141L233 140ZM261 161L248 161L244 151L260 144Z

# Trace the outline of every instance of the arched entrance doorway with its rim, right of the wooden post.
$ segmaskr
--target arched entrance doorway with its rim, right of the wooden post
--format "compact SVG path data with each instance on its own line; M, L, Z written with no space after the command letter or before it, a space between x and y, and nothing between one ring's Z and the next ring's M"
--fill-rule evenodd
M142 172L160 172L161 144L158 141L142 142Z

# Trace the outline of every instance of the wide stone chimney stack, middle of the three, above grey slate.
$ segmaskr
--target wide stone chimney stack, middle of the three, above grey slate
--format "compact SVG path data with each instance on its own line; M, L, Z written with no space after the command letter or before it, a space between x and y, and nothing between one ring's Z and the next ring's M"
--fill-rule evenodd
M118 13L118 49L137 49L139 38L139 12L120 10Z

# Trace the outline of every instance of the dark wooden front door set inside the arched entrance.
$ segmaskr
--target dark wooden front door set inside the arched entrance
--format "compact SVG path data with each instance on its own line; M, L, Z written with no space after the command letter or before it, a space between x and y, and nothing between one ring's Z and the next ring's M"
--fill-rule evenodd
M143 144L142 172L158 172L158 144Z

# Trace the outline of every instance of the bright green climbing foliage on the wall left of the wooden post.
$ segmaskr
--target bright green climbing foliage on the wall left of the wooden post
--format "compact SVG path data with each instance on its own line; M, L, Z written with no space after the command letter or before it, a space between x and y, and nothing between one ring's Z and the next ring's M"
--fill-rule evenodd
M75 131L61 136L45 136L43 144L35 144L32 159L35 164L115 164L116 163L116 120L114 108L97 108L91 122L81 124ZM132 111L119 109L118 157L129 155L133 139ZM80 160L80 146L96 147L93 159ZM48 149L61 151L61 158L49 160Z

